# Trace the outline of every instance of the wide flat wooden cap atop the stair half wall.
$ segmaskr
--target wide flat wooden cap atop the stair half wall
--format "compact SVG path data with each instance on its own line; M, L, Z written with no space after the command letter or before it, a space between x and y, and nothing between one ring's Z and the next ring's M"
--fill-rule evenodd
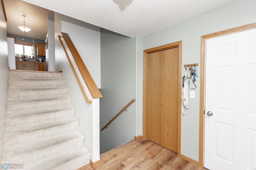
M75 45L71 41L70 37L67 33L61 32L62 36L68 45L68 48L76 62L76 65L92 95L92 98L102 98L102 94L100 93L100 90L98 89L96 83L92 79L92 76L90 75L90 72L88 71L87 67L84 64L84 61L82 60L81 56L79 55L78 51L76 50Z

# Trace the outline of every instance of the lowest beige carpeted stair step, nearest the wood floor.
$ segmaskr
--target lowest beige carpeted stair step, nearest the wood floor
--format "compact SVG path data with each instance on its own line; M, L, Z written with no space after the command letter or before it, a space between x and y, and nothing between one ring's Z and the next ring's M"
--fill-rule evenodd
M90 151L86 146L64 152L32 165L24 165L26 170L77 170L90 163Z

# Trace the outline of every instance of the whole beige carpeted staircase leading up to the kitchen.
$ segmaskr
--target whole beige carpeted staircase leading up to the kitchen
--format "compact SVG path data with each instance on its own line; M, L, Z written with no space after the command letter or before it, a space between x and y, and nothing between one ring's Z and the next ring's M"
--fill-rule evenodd
M10 70L3 164L27 170L76 170L90 162L62 73Z

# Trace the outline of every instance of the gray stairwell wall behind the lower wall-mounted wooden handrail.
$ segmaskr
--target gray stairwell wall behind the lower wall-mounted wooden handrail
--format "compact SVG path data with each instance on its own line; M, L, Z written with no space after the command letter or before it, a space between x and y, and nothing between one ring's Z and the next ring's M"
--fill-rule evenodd
M136 38L101 29L100 128L136 99ZM136 101L100 132L100 153L136 136Z

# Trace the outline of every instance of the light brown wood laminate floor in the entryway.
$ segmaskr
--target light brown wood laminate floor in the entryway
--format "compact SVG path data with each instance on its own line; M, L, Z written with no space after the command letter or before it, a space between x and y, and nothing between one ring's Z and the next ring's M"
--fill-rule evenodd
M100 155L101 163L78 170L204 170L149 140L132 140Z

